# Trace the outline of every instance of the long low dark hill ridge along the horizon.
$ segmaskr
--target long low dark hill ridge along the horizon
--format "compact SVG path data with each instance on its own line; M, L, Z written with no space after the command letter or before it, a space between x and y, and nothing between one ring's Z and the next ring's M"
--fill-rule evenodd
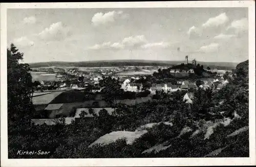
M80 62L38 62L30 63L31 68L58 66L58 67L110 67L110 66L169 66L184 63L184 61L156 61L156 60L100 60L100 61L80 61ZM233 69L238 63L230 62L198 62L200 65L209 66L210 68L227 68Z

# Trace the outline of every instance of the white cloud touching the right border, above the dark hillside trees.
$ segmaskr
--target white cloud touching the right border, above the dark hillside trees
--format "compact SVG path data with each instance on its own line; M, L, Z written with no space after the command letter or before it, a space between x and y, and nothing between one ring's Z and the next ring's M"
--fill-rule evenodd
M236 34L247 32L248 31L248 19L242 18L240 20L232 21L230 26L227 27L227 30L233 30Z

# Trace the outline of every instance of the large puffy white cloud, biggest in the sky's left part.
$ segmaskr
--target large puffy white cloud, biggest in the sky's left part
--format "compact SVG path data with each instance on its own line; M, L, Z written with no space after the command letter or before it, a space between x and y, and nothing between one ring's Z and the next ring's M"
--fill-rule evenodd
M49 28L46 28L38 34L44 40L62 40L71 35L67 27L63 27L62 22L53 23Z

